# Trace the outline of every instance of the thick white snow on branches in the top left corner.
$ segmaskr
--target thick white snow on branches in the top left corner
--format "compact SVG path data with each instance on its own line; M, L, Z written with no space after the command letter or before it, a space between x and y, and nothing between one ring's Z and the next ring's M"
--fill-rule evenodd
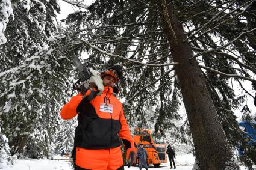
M4 31L6 24L9 22L9 17L13 17L13 8L11 8L10 0L0 0L0 46L6 43Z

